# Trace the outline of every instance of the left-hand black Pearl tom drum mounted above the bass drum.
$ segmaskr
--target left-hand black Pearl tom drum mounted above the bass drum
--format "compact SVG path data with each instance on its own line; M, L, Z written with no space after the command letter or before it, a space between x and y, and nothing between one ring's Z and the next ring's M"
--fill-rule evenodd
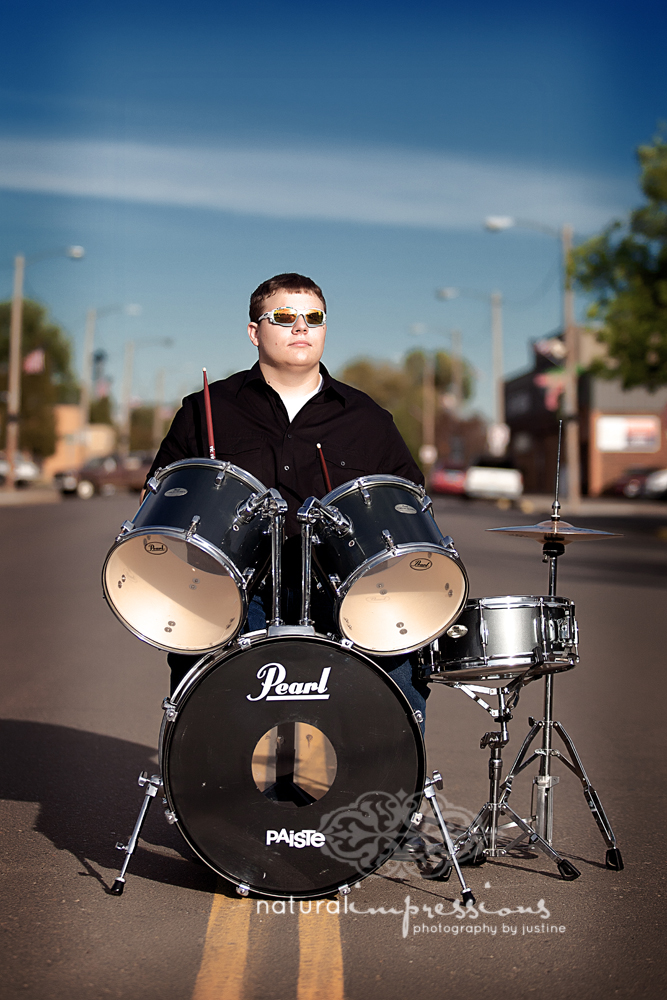
M228 462L189 458L161 469L102 571L111 610L170 652L230 642L271 551L270 517L242 510L265 487Z

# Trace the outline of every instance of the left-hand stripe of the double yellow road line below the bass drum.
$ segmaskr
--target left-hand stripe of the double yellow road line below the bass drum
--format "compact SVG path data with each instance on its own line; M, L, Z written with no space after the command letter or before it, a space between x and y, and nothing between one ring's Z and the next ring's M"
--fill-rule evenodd
M241 1000L252 902L213 897L192 1000Z

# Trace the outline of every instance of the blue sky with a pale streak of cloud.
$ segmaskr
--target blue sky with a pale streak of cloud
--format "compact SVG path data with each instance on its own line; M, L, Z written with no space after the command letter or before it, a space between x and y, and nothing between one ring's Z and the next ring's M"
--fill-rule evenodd
M4 27L0 296L15 253L82 244L26 291L79 352L87 308L140 303L98 346L118 385L137 341L145 399L162 366L176 397L251 364L249 293L297 270L327 294L332 369L456 327L489 412L487 308L435 289L502 291L520 368L559 322L558 244L484 216L594 232L636 203L634 149L667 118L658 3L27 0Z

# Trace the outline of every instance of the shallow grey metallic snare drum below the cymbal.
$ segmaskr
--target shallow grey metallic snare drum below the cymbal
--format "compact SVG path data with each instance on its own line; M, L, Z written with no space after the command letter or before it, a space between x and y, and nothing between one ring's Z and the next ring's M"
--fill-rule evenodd
M444 684L510 681L569 670L579 661L574 604L564 597L482 597L467 602L425 664Z

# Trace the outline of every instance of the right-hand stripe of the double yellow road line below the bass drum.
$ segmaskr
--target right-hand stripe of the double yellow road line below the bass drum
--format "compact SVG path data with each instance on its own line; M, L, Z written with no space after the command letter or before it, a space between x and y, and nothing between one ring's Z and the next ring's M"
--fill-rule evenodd
M299 912L297 1000L344 1000L339 917L326 912L326 905L324 912L317 913L315 908L313 903L313 912Z

